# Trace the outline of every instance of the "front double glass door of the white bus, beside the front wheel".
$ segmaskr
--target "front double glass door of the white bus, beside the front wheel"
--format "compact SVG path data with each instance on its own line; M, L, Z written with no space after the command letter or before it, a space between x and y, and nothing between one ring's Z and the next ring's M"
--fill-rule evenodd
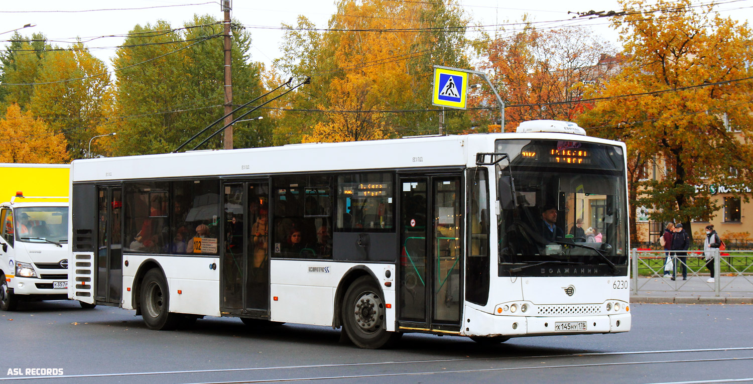
M462 178L406 175L401 187L398 324L459 331Z

